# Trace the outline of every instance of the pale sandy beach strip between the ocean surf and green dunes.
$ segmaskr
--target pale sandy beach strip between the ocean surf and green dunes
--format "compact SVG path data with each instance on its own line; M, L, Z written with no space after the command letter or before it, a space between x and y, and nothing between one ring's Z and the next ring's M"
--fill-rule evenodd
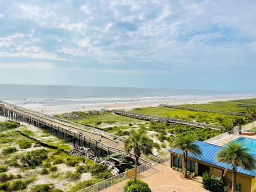
M256 96L255 96L256 97ZM67 106L42 106L42 107L26 107L31 110L38 112L43 111L43 113L48 115L70 113L71 111L88 111L88 110L101 110L105 107L107 110L113 109L133 109L133 108L142 108L142 107L156 107L161 103L168 105L182 105L182 104L202 104L213 101L229 101L236 99L250 99L254 97L222 97L222 98L211 98L203 100L148 100L148 101L133 101L133 102L119 102L119 103L105 103L105 104L90 104L90 105L68 105Z

